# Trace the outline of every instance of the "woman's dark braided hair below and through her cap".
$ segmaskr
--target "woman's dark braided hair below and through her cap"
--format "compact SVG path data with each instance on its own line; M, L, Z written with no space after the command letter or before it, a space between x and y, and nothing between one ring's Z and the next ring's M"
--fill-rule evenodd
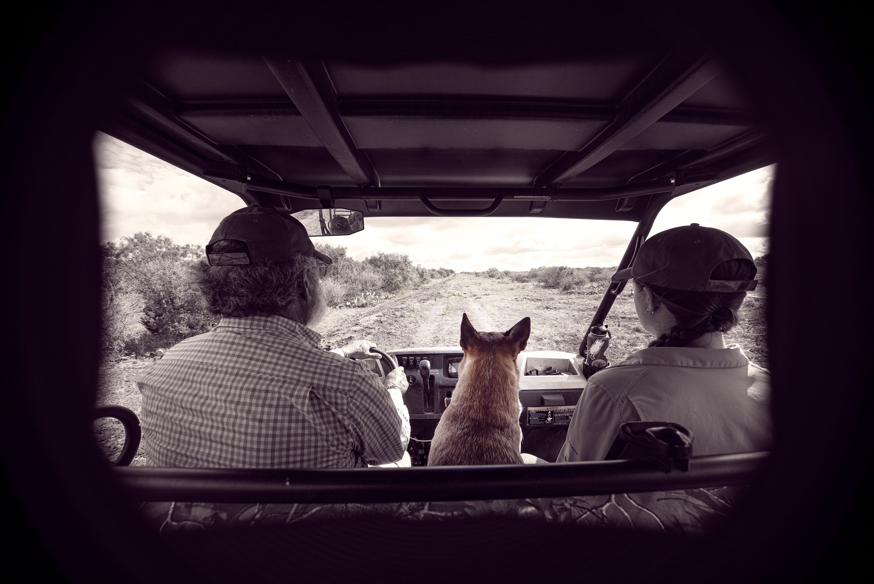
M713 268L712 280L750 280L756 269L752 262L729 260ZM690 292L635 282L648 288L676 318L676 325L663 333L650 347L689 347L712 332L727 332L738 323L738 310L746 292Z

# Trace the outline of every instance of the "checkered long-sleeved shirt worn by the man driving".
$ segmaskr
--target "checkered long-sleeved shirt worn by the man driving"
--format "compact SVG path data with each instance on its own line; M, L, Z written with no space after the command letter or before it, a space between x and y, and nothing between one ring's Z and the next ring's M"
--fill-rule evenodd
M137 379L152 466L349 468L398 461L409 438L399 389L319 348L282 316L222 318Z

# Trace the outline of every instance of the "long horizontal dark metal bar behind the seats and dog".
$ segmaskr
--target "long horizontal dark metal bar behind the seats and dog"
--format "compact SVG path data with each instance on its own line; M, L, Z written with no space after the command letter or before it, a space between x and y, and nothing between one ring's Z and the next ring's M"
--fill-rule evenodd
M688 471L619 460L413 469L179 469L118 467L135 501L401 503L575 497L748 484L768 453L696 456Z

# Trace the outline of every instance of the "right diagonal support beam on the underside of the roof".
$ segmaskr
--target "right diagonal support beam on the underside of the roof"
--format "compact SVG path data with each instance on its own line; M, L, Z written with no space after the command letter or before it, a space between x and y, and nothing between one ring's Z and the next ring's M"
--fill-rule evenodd
M621 101L614 122L579 151L559 156L534 179L534 186L560 186L592 168L658 122L721 70L709 55L669 55Z

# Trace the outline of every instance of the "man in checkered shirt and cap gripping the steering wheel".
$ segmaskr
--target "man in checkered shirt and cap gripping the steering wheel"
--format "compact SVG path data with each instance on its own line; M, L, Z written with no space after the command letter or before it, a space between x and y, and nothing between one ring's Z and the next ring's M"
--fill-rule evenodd
M408 465L403 368L382 381L353 360L378 358L374 344L324 351L309 328L326 311L320 278L331 261L306 228L252 205L222 219L206 254L198 286L218 326L175 345L137 379L149 464Z

